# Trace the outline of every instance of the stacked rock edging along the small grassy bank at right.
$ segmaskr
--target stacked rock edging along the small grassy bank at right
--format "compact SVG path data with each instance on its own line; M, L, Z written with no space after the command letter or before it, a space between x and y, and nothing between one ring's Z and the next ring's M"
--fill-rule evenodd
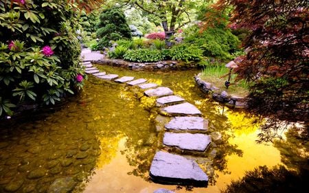
M201 73L194 76L194 80L198 85L198 88L203 91L203 93L211 93L211 97L217 102L221 102L232 109L245 109L247 108L247 102L245 98L241 98L235 95L229 95L227 91L220 91L213 84L206 82L200 78Z

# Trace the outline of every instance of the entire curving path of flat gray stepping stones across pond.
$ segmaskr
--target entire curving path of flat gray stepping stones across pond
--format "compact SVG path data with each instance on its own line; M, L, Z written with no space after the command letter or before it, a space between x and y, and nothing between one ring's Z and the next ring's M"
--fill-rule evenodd
M196 106L186 102L180 96L174 95L174 92L168 87L160 87L144 78L135 79L132 76L119 78L117 74L107 74L93 67L91 60L97 60L104 55L93 55L93 53L83 50L82 56L84 56L82 65L86 67L86 73L102 80L139 87L144 91L144 95L156 98L159 114L172 117L172 120L164 126L163 145L165 147L176 147L183 153L205 152L207 150L211 143L211 137L205 134L208 121L202 117L201 111ZM91 58L92 56L94 57ZM201 187L207 186L208 183L207 174L203 172L196 161L177 155L176 151L173 153L163 150L157 152L150 167L150 177L153 181L161 183L189 184Z

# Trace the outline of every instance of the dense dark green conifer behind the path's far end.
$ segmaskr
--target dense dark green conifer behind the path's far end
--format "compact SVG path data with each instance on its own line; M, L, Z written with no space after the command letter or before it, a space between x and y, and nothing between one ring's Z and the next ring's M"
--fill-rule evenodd
M131 32L124 12L118 8L102 11L97 36L100 38L98 49L111 46L111 41L117 41L121 38L130 39Z

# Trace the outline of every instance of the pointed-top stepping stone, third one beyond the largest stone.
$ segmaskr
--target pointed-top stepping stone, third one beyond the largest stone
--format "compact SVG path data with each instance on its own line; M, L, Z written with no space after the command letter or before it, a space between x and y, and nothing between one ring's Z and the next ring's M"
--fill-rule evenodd
M201 111L189 102L161 108L161 113L170 115L202 115Z

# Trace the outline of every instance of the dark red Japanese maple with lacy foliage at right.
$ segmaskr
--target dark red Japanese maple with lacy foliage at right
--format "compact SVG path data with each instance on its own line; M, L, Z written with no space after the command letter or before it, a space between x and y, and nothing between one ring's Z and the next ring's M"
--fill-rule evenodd
M232 27L250 31L237 70L238 78L253 82L249 109L271 120L308 123L308 1L221 0L216 5L231 7Z

